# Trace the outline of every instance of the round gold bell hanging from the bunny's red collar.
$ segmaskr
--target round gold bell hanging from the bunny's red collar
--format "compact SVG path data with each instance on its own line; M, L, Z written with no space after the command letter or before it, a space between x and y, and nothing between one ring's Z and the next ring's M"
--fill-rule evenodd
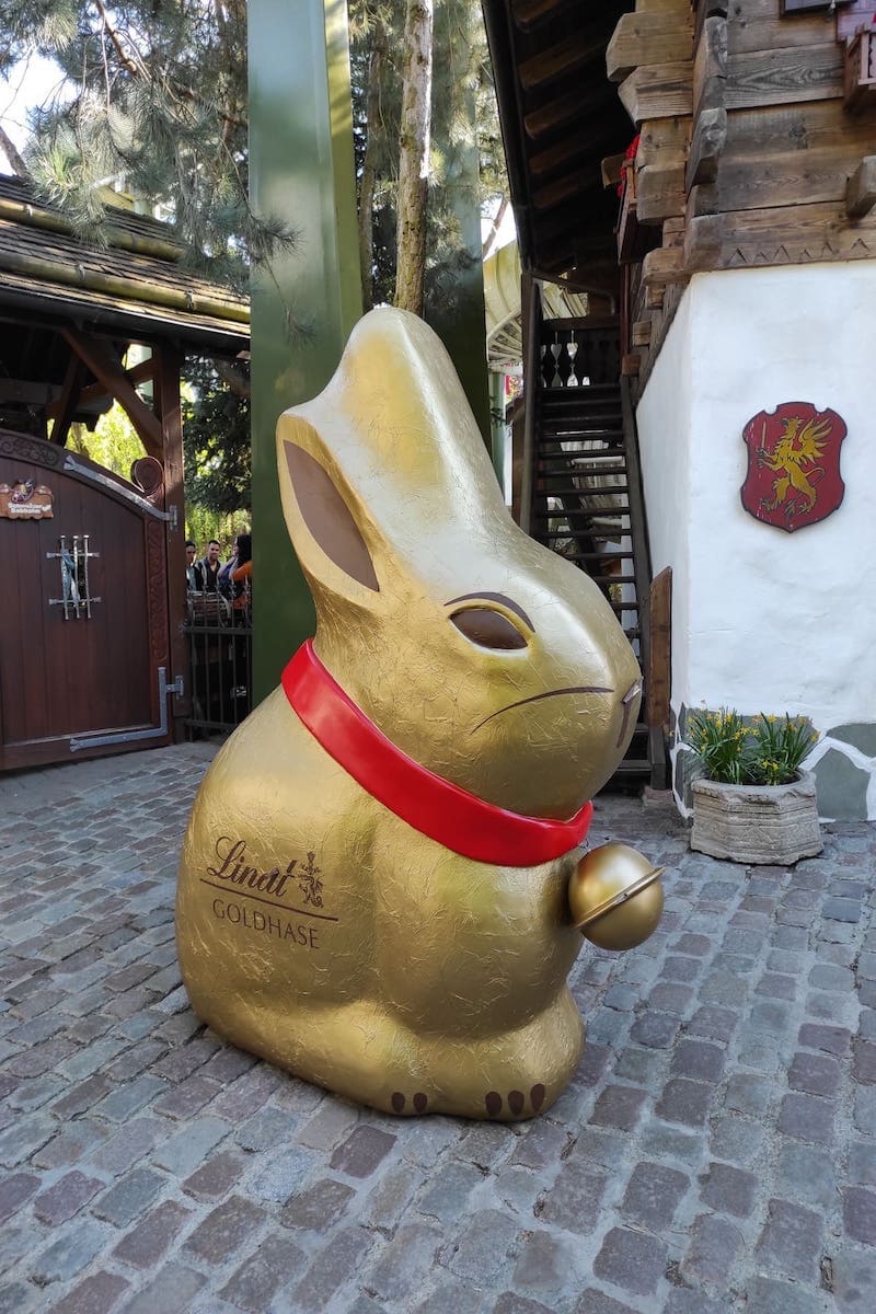
M663 912L663 867L626 844L603 844L569 878L569 907L582 936L599 949L634 949Z

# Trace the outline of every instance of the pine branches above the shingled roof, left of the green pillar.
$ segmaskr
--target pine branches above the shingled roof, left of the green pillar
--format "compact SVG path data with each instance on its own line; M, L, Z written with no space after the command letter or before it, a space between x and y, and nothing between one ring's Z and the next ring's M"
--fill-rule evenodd
M246 0L0 0L0 75L32 53L60 67L24 155L80 237L106 240L112 179L169 210L192 268L242 290L250 261L294 244L247 198Z

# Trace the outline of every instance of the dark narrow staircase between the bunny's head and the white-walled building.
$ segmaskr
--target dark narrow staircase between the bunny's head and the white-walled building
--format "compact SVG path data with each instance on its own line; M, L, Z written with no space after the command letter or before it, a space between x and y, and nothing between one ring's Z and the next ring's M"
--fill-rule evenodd
M537 289L533 301L521 526L594 579L646 673L650 562L619 323L615 317L541 321ZM663 787L663 735L649 728L646 707L645 694L642 719L615 781Z

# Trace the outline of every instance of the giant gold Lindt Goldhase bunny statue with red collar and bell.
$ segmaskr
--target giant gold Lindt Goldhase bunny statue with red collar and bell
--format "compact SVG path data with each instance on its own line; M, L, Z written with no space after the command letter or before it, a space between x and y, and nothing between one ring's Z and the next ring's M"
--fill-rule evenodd
M632 849L578 848L636 721L636 661L596 586L514 524L414 315L366 315L277 449L317 635L196 800L192 1004L377 1109L531 1117L580 1058L580 928L630 947L662 909Z

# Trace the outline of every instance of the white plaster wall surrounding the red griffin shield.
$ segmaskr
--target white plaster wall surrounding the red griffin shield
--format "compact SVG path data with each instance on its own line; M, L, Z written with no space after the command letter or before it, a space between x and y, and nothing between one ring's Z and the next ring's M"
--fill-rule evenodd
M869 260L696 275L684 293L637 411L676 710L876 721L875 306ZM848 427L842 506L793 533L739 501L742 430L789 401Z

